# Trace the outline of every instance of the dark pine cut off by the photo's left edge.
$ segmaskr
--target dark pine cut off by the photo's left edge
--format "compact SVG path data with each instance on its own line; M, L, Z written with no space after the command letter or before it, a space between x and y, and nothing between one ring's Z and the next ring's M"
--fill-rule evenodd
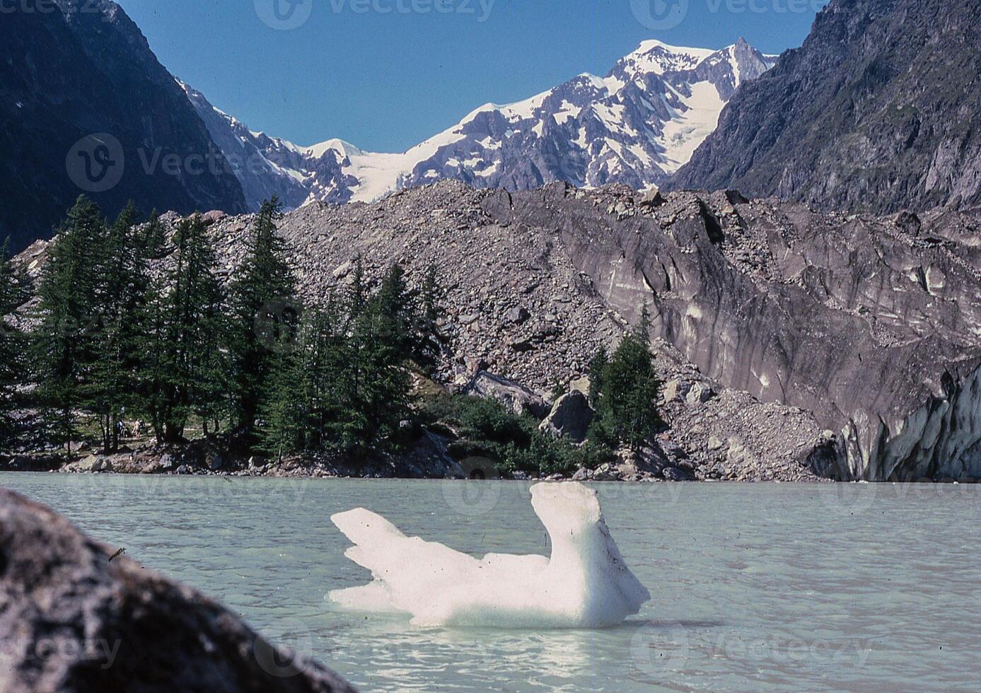
M27 299L26 274L10 259L9 242L0 249L0 447L14 440L14 413L19 406L18 387L26 380L26 335L12 322L13 313Z

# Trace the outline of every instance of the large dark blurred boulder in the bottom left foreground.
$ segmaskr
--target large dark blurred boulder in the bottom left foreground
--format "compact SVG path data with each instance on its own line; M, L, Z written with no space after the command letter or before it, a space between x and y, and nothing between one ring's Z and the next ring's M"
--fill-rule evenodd
M114 553L0 488L0 693L354 690Z

